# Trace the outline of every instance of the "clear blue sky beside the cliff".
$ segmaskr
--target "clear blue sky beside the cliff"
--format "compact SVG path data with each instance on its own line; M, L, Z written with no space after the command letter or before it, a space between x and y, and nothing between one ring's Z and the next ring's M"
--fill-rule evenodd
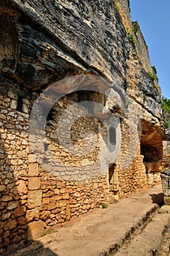
M137 20L158 72L164 97L170 99L170 0L130 0L131 20Z

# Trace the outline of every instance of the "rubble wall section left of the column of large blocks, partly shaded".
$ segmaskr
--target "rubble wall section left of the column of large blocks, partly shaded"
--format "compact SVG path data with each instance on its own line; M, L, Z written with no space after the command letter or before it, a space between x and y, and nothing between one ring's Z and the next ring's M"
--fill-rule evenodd
M28 107L18 111L18 95L1 95L1 247L27 238Z

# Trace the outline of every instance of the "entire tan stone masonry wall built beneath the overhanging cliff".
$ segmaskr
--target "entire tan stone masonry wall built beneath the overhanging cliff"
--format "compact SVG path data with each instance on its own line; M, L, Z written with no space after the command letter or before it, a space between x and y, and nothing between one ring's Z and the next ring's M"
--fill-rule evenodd
M33 95L35 97L36 94ZM125 156L129 154L128 140L130 135L125 120L121 124L123 137L121 154L117 164L109 167L107 175L99 175L101 166L98 162L98 120L96 118L80 116L76 122L73 122L70 136L72 136L72 142L77 143L77 146L80 147L80 154L79 157L75 157L66 152L58 141L55 127L61 116L58 113L68 110L68 106L72 106L72 108L69 109L69 118L68 115L66 118L67 124L74 120L74 115L75 117L78 116L77 111L79 109L73 107L73 99L76 103L77 94L69 98L64 97L58 102L53 108L53 111L55 109L53 118L50 116L51 119L48 118L46 122L45 145L47 148L53 152L54 157L58 157L59 162L66 163L67 159L70 171L74 170L76 166L73 178L70 176L68 179L66 176L67 171L69 171L68 168L64 170L63 165L53 167L52 158L50 158L50 170L47 169L47 165L39 165L36 154L29 145L28 117L31 99L19 100L18 95L12 91L7 91L7 94L1 95L0 223L1 246L3 247L12 244L13 248L14 244L23 244L26 239L36 239L43 235L45 230L55 228L73 217L98 208L102 203L115 202L132 191L159 182L158 178L152 178L150 174L146 173L139 147L131 165L121 169ZM71 102L72 105L70 105ZM83 157L84 152L81 151L81 148L84 146L85 132L88 131L96 132L97 138L93 138L93 143L97 147L86 154L86 157ZM66 140L64 134L63 140ZM136 140L139 139L136 138ZM139 145L139 141L137 144ZM88 144L88 146L93 147L93 144ZM45 148L41 148L41 151L45 156ZM97 162L94 170L94 163ZM87 171L83 173L83 167L87 166L90 173L88 177L93 175L93 179L82 177L87 175ZM58 170L63 170L66 176L65 181L64 176L58 178L58 173L55 174ZM112 170L110 177L109 170Z

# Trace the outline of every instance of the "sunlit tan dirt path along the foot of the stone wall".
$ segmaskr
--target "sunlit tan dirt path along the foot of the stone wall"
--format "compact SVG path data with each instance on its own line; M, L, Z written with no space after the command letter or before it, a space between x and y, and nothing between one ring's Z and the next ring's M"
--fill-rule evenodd
M12 256L115 255L118 247L130 242L132 236L138 236L135 232L150 222L162 200L161 185L136 193L108 208L74 219L56 233L40 238L31 248Z

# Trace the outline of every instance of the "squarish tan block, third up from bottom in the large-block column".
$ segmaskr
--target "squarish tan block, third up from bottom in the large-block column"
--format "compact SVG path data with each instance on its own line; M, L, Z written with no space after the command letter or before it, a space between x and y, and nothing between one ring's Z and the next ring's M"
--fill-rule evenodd
M42 205L42 190L28 191L28 209Z

